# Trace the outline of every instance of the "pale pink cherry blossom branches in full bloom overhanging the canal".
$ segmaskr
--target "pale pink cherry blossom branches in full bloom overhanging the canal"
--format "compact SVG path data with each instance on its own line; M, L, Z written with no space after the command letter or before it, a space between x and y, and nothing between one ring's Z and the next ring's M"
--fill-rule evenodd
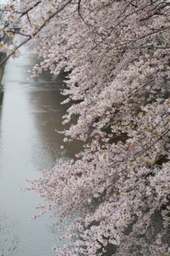
M14 3L14 1L13 1ZM70 122L65 143L84 141L77 159L59 159L28 190L47 201L55 225L79 218L53 247L58 255L168 255L170 214L169 0L23 0L4 6L6 33L22 23L42 62L33 76L64 70ZM77 123L72 124L72 117ZM86 144L86 139L91 142ZM50 203L49 203L50 202ZM159 215L157 232L156 217Z

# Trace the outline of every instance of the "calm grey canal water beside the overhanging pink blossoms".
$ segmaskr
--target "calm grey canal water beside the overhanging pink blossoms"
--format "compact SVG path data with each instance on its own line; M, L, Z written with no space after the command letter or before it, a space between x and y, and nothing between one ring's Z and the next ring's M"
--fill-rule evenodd
M65 145L62 115L68 105L64 97L63 75L52 81L48 72L30 79L32 60L26 46L21 57L9 59L4 69L0 92L0 256L52 256L54 245L62 246L61 234L52 227L56 219L38 214L35 209L42 198L32 191L19 191L28 186L26 178L38 178L42 169L52 169L56 159L70 159L81 144ZM27 80L28 79L28 80ZM69 220L66 220L69 224Z

